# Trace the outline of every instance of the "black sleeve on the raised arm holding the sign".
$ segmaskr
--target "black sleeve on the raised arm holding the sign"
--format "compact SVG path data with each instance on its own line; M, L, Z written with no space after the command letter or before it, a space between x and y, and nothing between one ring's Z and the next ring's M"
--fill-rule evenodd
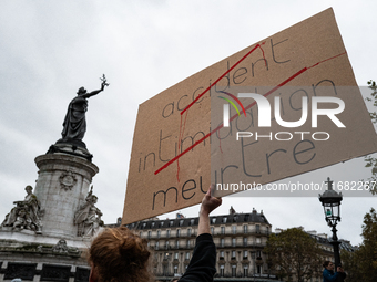
M211 234L196 238L193 257L179 282L212 282L216 273L216 246Z

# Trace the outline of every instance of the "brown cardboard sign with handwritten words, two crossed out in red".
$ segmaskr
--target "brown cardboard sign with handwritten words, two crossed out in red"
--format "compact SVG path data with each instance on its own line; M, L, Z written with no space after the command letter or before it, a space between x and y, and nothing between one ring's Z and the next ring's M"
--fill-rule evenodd
M264 95L269 112L238 93ZM322 98L328 96L335 100ZM224 126L224 105L231 104ZM269 125L261 126L266 116ZM292 127L297 121L303 124ZM328 9L140 105L122 223L198 203L211 182L267 184L375 150L376 135Z

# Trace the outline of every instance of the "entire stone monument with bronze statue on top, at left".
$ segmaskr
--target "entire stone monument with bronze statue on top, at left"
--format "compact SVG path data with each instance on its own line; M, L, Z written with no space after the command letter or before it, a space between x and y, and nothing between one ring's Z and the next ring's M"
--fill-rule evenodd
M86 132L88 98L109 86L88 93L80 87L68 106L62 138L38 156L34 192L16 205L0 226L0 281L88 281L84 255L91 238L103 226L95 207L93 186L99 168L82 140Z

